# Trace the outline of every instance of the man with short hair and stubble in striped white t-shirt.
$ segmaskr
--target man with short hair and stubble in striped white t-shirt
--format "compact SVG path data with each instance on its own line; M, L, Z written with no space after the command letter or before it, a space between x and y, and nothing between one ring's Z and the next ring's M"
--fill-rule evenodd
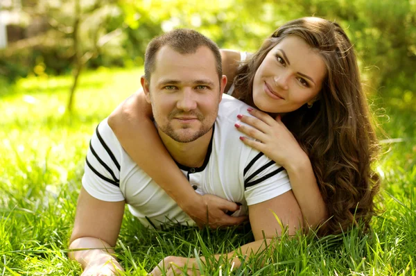
M270 239L281 232L273 212L291 233L300 227L302 213L284 169L236 142L239 132L234 119L237 114L248 114L248 105L223 96L226 83L218 46L196 31L166 33L146 49L141 85L152 105L160 138L196 192L240 202L241 208L233 216L250 212L256 241L241 247L243 254L250 255L263 247L263 233ZM71 249L98 248L70 253L83 266L84 275L111 275L114 267L121 269L111 248L119 235L125 203L149 227L193 224L132 162L105 119L87 153L70 239ZM239 266L234 252L228 257ZM189 269L192 266L190 261Z

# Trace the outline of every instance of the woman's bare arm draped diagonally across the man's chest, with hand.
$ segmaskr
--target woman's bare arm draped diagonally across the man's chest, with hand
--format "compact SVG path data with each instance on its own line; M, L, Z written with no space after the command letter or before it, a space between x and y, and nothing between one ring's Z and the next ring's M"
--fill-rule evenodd
M225 214L239 209L236 203L212 195L200 196L193 190L162 144L151 117L151 106L140 90L112 112L108 124L130 157L198 226L208 224L216 228L243 222L245 217Z

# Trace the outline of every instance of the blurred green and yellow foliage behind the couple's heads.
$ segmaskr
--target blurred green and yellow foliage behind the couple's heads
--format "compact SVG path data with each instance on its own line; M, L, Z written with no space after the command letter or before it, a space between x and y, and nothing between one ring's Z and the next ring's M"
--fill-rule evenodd
M155 36L173 28L194 28L224 49L255 51L286 21L304 16L335 20L346 29L360 58L369 92L399 99L398 107L415 109L415 0L76 0L22 1L30 18L46 19L38 43L0 52L0 74L8 80L28 74L71 71L71 26L81 20L83 51L116 29L112 38L89 60L89 67L133 67L143 64L144 51Z

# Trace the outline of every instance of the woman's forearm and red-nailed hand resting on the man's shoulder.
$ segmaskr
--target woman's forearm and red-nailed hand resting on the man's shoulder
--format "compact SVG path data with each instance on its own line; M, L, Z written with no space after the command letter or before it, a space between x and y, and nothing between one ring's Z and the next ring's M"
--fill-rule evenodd
M259 110L252 110L250 114L254 117L243 116L239 119L253 128L239 123L236 128L258 141L246 137L242 137L242 141L286 169L293 193L302 210L304 224L312 228L318 227L327 220L328 213L309 157L280 117L275 120ZM305 230L309 230L309 227L305 227Z

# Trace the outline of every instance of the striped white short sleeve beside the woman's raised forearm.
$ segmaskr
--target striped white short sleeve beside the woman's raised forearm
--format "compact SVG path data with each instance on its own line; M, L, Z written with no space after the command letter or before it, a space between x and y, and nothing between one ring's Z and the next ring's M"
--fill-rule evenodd
M243 173L248 205L270 200L292 189L286 170L255 150L250 153Z

